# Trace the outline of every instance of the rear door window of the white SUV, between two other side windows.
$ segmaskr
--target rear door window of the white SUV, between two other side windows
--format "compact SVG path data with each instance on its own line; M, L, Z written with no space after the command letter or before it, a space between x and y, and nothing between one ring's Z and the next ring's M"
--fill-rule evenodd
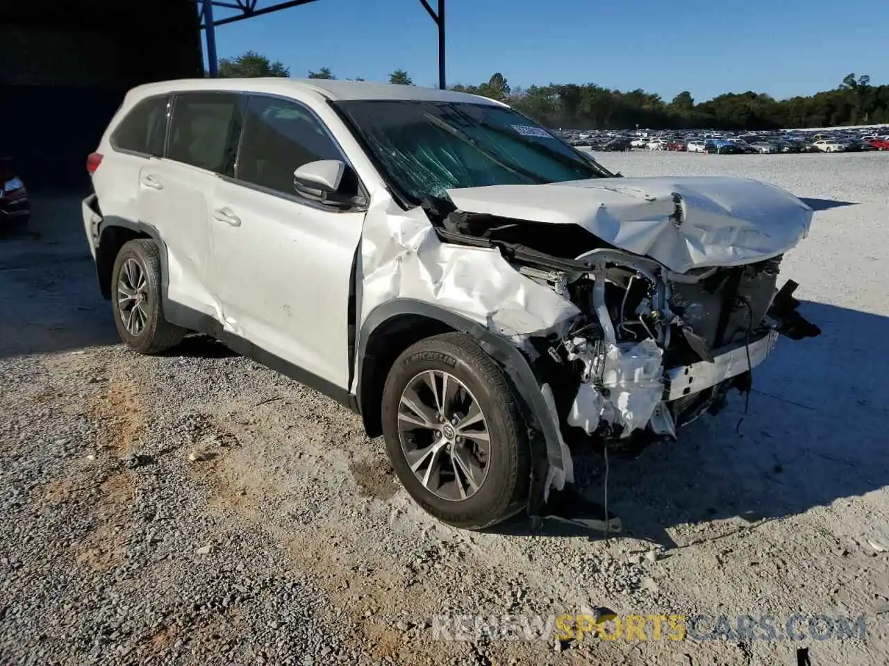
M167 157L201 169L232 175L243 98L232 92L182 92L170 121Z

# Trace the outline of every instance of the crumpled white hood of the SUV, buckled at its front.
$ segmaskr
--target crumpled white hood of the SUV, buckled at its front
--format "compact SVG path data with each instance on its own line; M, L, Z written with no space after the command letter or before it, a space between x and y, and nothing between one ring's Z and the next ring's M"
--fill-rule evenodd
M677 273L775 257L808 234L812 209L749 178L594 178L450 189L457 208L587 229Z

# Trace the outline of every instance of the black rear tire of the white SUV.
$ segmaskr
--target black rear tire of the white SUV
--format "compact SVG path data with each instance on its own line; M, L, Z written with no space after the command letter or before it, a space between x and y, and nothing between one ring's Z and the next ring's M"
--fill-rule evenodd
M141 272L140 278L132 277L132 265L135 263ZM127 273L127 270L130 273ZM144 281L141 278L144 278ZM136 285L129 282L135 281ZM138 287L140 289L131 289ZM126 289L130 294L139 294L140 313L134 313L142 321L140 328L128 329L128 321L121 312L122 300L127 301L126 307L135 309L136 299L127 299ZM156 242L140 238L124 243L117 252L114 268L111 271L111 304L114 323L120 339L134 352L153 354L164 352L178 345L188 332L185 329L164 319L164 304L161 298L161 259ZM132 323L132 322L131 322ZM131 330L132 329L132 330Z

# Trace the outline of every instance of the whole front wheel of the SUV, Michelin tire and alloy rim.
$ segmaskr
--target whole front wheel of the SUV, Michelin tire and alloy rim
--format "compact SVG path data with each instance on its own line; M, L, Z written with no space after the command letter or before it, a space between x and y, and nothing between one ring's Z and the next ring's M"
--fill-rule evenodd
M463 333L412 345L389 370L383 434L415 502L454 527L478 529L521 511L531 450L506 374Z

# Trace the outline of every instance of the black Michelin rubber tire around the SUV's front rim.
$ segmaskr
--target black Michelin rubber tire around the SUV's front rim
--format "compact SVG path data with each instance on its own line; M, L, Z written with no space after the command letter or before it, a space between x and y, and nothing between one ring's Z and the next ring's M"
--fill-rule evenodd
M447 423L440 424L441 432L438 435L422 427L413 432L404 432L404 428L411 427L411 423L406 422L404 416L410 418L412 410L404 407L403 394L408 392L412 396L411 400L418 397L420 393L411 393L412 387L417 386L418 384L415 384L417 382L428 382L430 372L436 377L446 374L450 377L448 382L452 388L453 379L457 380L458 389L452 405L459 405L461 401L465 405L468 392L468 398L475 400L480 408L483 416L482 424L470 425L461 432L471 432L471 428L483 427L489 436L484 479L477 484L477 489L465 498L458 493L457 484L468 477L465 473L458 475L455 471L457 461L454 458L467 456L467 451L473 450L473 447L484 448L484 441L474 441L471 436L461 438L459 432L456 440L453 440L454 431L447 428ZM442 385L436 383L435 394L428 388L428 383L425 387L421 392L429 399L425 401L426 404L435 404ZM428 337L405 350L389 370L381 407L383 435L392 466L404 489L430 515L453 527L480 529L508 519L525 508L531 473L531 448L527 426L505 372L471 337L464 333L446 333ZM399 410L402 416L399 416ZM449 409L445 406L445 411L449 415L458 415L458 419L462 417L465 420L467 417L467 413L461 412L461 408ZM436 408L433 407L428 413L434 412ZM473 413L474 410L466 408L466 412ZM402 426L401 431L399 425ZM444 465L450 466L451 472L445 469L445 473L434 476L439 481L443 479L451 481L440 482L435 492L427 488L412 472L411 464L408 462L409 454L406 451L412 451L413 448L428 450L425 448L427 444L443 443L442 438L445 436L451 436L456 442L447 444L442 454L445 459ZM459 443L461 439L462 444ZM419 443L414 443L417 440ZM451 448L453 454L449 457L447 451ZM475 450L477 451L477 448ZM415 451L412 451L412 454L414 462L418 457L424 457ZM436 454L431 454L431 457L435 461ZM484 452L480 458L469 455L472 463L479 463L480 459L485 460ZM428 469L430 465L424 467ZM425 472L424 467L420 467L420 473ZM435 486L435 480L429 485ZM465 487L464 489L472 490L468 484L461 485ZM443 497L438 493L448 494L450 497Z

